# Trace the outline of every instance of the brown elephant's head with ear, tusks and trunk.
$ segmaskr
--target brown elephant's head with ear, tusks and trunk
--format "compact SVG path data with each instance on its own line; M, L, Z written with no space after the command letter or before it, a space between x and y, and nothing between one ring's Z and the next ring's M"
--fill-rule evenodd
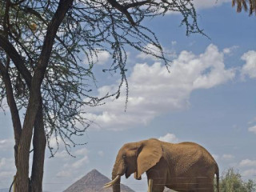
M162 146L157 139L126 143L118 151L112 171L113 180L105 187L113 186L113 191L119 192L122 175L126 174L129 178L134 173L134 178L141 179L142 174L156 165L161 157Z

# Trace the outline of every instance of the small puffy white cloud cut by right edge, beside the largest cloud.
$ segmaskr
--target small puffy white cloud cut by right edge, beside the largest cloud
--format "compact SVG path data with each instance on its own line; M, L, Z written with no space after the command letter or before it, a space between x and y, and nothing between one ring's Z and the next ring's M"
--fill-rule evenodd
M250 50L246 52L242 55L242 60L246 61L241 70L242 78L245 78L245 76L256 78L256 51Z

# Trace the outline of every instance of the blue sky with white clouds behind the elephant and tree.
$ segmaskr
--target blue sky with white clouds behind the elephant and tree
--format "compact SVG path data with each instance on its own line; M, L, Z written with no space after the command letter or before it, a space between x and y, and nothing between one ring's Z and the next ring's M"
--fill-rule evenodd
M130 92L106 106L88 108L94 120L71 158L60 149L46 154L44 188L62 191L92 169L110 177L115 155L125 142L160 138L167 142L198 142L218 162L221 173L229 167L243 178L256 177L256 18L237 14L229 0L196 1L199 26L210 37L186 37L181 17L146 21L173 62L170 73L161 61L129 50ZM102 52L95 72L110 55ZM118 74L96 74L97 94L113 90ZM10 186L14 169L14 139L10 113L0 111L0 188ZM52 143L54 145L54 142ZM135 191L146 190L146 179L122 179Z

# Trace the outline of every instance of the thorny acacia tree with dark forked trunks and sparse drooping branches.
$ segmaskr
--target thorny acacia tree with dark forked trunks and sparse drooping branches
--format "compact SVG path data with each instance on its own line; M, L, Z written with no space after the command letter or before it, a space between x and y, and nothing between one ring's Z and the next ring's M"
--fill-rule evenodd
M158 38L142 26L145 18L178 11L186 35L203 34L187 0L0 0L0 6L0 106L6 98L14 128L16 192L42 191L46 146L54 155L53 137L68 152L77 145L72 137L90 126L82 115L84 106L118 98L122 86L128 94L127 46L167 65ZM112 56L105 71L120 73L122 81L116 92L95 98L90 79L94 81L92 68L100 51Z

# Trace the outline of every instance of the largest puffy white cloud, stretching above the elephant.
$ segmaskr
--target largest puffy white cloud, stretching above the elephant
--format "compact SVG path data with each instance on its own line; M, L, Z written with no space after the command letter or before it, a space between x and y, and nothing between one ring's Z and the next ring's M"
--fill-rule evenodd
M234 76L234 69L225 68L223 52L212 44L199 55L182 51L171 63L170 73L160 62L151 66L137 63L128 77L126 112L124 94L114 102L91 108L86 118L96 122L98 128L111 130L143 126L160 114L187 109L192 91L221 85ZM102 86L98 95L114 92L116 88L117 85Z

